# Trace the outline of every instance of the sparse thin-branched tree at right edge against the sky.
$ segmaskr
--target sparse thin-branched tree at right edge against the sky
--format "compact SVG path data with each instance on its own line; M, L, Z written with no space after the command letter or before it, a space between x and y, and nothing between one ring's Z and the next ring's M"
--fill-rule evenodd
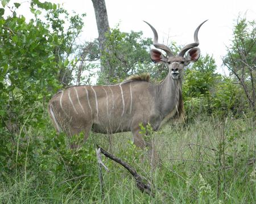
M249 107L255 112L256 22L238 18L233 36L223 62L230 75L242 86Z

